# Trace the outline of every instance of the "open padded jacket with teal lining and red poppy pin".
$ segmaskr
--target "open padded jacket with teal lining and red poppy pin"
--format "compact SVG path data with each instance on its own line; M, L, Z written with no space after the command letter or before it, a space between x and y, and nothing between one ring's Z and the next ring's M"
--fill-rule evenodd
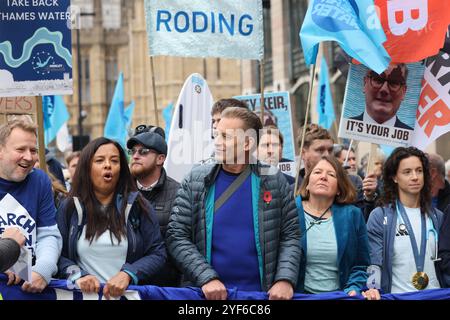
M253 224L261 277L267 291L280 280L295 288L300 263L300 229L289 184L281 172L260 175L263 165L250 165ZM175 199L167 229L170 254L187 280L201 287L219 279L209 263L214 214L214 184L221 165L195 167ZM264 195L270 194L270 200Z

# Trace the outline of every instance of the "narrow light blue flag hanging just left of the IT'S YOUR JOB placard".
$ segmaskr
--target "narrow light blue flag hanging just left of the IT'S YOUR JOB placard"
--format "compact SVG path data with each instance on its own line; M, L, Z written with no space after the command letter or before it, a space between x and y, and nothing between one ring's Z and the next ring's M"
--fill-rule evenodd
M333 99L328 80L328 64L325 57L322 57L320 65L317 113L319 114L319 125L327 130L330 129L336 117L334 115Z

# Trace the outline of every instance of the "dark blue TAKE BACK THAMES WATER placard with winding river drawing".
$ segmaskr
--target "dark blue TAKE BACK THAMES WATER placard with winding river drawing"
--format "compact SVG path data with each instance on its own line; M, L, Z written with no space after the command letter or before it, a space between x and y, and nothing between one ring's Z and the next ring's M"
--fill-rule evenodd
M0 96L72 94L70 0L0 1Z

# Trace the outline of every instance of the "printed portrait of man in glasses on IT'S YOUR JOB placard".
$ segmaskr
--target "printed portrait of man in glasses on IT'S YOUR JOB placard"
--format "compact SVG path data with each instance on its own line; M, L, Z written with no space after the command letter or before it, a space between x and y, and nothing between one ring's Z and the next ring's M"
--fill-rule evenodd
M413 130L400 121L397 111L406 95L408 69L405 64L392 64L382 74L369 70L364 77L366 109L353 120Z

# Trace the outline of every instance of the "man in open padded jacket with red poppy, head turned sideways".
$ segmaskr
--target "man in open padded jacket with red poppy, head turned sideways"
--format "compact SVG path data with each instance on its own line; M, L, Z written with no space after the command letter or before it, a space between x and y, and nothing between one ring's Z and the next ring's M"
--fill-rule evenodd
M167 247L185 278L208 300L226 287L291 299L300 263L300 230L289 184L256 161L258 116L227 108L217 126L217 163L183 180L167 229ZM214 230L214 232L213 232Z

